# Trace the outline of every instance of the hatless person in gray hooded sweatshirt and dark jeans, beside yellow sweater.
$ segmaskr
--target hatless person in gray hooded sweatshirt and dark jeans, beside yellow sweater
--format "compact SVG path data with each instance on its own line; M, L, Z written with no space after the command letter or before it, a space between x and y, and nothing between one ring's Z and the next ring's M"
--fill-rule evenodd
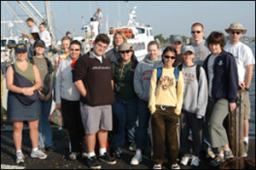
M138 165L143 161L142 151L148 149L149 86L152 71L163 66L163 62L158 56L159 52L159 43L156 41L149 42L148 55L137 65L134 73L133 85L139 98L137 109L139 126L137 127L136 154L131 158L131 165Z

